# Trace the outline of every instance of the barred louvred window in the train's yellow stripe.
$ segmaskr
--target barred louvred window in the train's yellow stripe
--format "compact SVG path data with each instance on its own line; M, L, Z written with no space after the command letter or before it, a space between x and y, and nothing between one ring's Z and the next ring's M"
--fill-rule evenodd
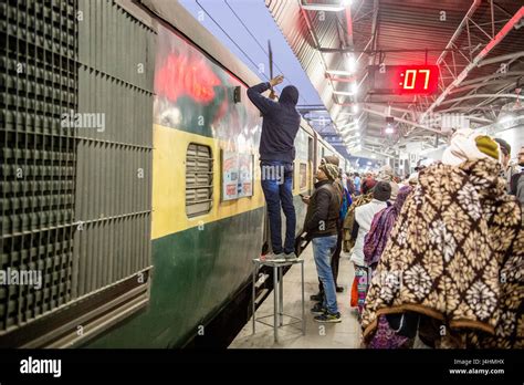
M213 157L211 148L190 143L186 154L186 215L191 218L211 210Z

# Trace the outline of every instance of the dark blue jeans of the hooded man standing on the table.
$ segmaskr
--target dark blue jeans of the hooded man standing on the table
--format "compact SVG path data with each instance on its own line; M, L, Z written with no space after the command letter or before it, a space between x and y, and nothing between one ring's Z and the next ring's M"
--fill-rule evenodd
M262 160L262 190L268 204L271 246L274 253L295 251L296 216L293 206L293 164L280 160ZM281 208L285 215L285 243L282 249Z

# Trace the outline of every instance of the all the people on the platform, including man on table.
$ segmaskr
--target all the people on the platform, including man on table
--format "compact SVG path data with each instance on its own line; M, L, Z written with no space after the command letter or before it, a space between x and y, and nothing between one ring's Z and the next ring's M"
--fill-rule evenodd
M270 261L296 259L298 92L286 86L277 102L261 95L282 80L248 90L263 115L262 189L273 248L263 257ZM524 347L524 146L517 165L511 159L509 143L469 128L453 133L441 160L421 163L402 180L389 166L348 176L336 157L324 157L313 194L302 198L321 283L312 295L315 321L342 321L336 281L344 250L355 274L346 298L364 346ZM264 178L268 167L282 175Z

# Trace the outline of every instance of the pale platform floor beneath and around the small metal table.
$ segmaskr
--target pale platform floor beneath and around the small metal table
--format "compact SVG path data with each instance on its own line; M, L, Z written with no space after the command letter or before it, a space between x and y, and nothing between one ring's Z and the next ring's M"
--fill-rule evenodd
M360 347L360 325L355 310L349 306L350 283L354 271L349 256L340 256L338 284L344 287L343 293L337 293L338 308L342 314L340 323L318 323L310 312L314 302L310 295L318 291L318 278L313 260L313 248L310 243L304 250L304 290L305 290L305 319L306 334L300 330L301 323L282 326L279 329L279 343L274 342L273 327L256 322L256 333L252 334L252 320L245 324L229 346L230 348L350 348ZM256 318L273 313L273 294L270 294L256 311ZM301 316L301 267L293 266L284 275L284 313ZM273 318L265 322L272 323ZM284 316L284 323L290 318Z

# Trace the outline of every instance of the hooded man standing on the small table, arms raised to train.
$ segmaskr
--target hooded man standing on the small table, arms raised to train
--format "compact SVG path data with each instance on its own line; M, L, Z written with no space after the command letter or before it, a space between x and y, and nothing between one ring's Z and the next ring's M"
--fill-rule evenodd
M260 139L260 167L262 170L262 190L268 202L271 246L273 252L266 260L293 259L295 254L295 207L293 206L293 160L295 158L295 136L301 125L301 115L296 111L298 90L287 85L282 90L279 101L272 101L261 94L283 81L276 76L266 83L248 89L248 97L263 116L262 137ZM285 215L285 242L282 247L281 205Z

